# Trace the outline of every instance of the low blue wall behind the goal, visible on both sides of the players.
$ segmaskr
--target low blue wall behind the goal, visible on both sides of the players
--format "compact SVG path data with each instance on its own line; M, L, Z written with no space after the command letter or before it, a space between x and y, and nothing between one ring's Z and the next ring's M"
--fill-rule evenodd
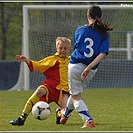
M0 90L9 90L17 83L19 70L20 62L0 62ZM30 89L36 89L45 79L43 74L34 72L35 76L30 73ZM133 88L133 61L102 61L88 88Z

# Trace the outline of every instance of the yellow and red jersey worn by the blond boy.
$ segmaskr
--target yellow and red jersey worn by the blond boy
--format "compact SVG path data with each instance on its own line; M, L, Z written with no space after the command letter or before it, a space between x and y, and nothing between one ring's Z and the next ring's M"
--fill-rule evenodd
M40 61L30 60L30 71L39 71L46 76L43 84L50 84L58 90L68 90L68 63L70 56L65 59L56 52Z

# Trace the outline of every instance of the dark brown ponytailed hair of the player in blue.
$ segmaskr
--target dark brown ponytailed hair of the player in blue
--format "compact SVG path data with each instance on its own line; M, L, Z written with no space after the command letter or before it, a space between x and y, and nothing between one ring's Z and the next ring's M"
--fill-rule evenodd
M109 31L114 29L113 26L111 26L108 22L102 21L102 10L99 6L90 6L87 10L87 16L90 16L92 19L94 19L94 22L90 25L90 27L102 35L110 35Z

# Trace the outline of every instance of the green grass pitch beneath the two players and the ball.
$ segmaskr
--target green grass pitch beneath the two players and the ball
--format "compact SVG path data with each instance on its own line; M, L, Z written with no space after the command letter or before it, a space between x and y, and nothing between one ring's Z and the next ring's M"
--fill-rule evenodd
M51 116L39 121L30 113L24 126L12 126L10 120L16 119L33 90L0 91L0 131L133 131L133 90L127 89L88 89L82 97L92 115L95 128L82 129L83 121L73 111L65 125L55 124L55 110L58 107L51 103Z

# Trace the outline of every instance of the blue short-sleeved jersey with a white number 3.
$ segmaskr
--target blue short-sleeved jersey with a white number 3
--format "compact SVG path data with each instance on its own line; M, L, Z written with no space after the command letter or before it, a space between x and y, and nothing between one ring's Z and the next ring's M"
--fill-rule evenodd
M108 35L103 37L94 29L88 26L81 26L76 29L74 34L74 51L71 54L70 63L89 65L100 53L108 54L108 51Z

